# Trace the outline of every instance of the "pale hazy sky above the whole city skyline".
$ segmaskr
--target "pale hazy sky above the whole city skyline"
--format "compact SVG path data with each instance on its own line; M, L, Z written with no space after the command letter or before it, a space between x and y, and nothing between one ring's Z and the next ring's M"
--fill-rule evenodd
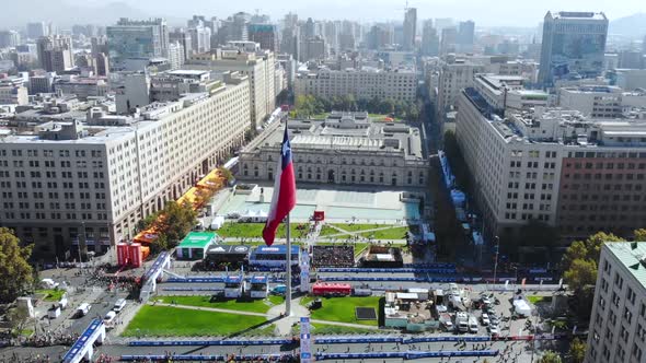
M302 19L401 21L405 5L405 0L0 0L0 28L33 20L91 23L93 16L104 24L112 24L118 16L164 16L173 24L184 23L192 14L227 17L238 11L254 13L256 9L273 21L289 11ZM611 21L646 12L646 0L409 0L408 5L417 8L419 20L472 19L476 26L534 27L547 10L603 11ZM93 13L95 8L105 11ZM128 8L131 13L123 10Z

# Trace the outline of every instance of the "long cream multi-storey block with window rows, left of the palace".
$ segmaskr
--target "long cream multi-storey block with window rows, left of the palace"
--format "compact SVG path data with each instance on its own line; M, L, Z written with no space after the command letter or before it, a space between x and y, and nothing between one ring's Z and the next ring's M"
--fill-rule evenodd
M136 223L177 199L224 162L250 129L249 79L209 93L152 103L138 116L91 108L85 120L2 134L0 225L67 258L84 239L101 250L130 238Z

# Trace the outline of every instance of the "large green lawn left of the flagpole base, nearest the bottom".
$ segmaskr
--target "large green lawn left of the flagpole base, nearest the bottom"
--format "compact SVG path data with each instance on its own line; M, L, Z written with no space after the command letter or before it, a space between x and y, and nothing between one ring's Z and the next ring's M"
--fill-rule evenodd
M259 316L201 312L178 307L145 305L139 309L124 337L206 337L229 336L261 326Z

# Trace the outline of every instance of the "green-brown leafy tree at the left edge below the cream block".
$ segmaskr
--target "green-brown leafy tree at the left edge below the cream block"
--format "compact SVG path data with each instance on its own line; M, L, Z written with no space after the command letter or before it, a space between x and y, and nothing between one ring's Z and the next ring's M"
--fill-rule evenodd
M27 259L32 247L20 246L13 231L0 227L0 303L11 303L33 281L32 267Z

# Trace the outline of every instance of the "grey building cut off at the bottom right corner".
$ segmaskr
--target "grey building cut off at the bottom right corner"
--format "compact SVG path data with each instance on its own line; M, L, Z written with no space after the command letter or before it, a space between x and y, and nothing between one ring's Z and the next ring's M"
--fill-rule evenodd
M646 243L601 246L586 350L587 363L646 359Z

